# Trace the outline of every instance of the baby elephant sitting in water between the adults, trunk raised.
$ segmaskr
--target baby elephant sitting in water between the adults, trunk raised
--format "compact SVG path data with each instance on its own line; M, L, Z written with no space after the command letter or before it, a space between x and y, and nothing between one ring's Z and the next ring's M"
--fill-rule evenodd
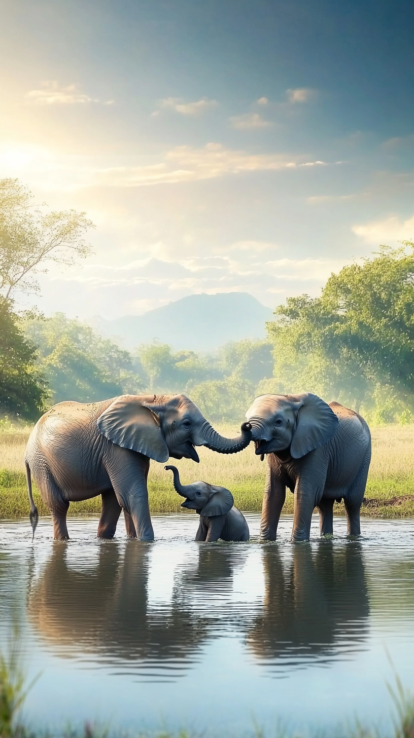
M164 466L174 475L175 492L186 497L181 507L200 515L196 541L248 541L250 534L244 515L234 507L233 495L225 487L207 482L181 484L177 466Z

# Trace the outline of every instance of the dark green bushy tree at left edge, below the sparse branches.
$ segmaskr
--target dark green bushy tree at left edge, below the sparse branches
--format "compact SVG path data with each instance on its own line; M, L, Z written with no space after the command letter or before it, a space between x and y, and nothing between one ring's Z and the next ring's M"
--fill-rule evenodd
M36 350L24 337L10 303L0 299L0 412L37 420L45 410L47 382L36 365Z

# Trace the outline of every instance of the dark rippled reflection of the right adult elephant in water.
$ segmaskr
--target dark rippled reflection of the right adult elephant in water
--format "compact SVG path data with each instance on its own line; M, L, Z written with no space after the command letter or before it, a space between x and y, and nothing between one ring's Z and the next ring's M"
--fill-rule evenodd
M364 640L370 613L359 544L333 548L321 543L313 552L294 546L291 562L276 546L262 551L265 598L247 635L260 659L283 655L326 656L350 641Z

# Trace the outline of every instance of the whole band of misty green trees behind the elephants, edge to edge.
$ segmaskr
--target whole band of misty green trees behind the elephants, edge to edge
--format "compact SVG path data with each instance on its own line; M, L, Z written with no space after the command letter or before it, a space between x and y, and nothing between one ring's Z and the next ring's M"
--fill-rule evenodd
M57 313L16 313L47 261L90 253L84 213L44 213L17 180L0 180L0 413L34 420L51 404L121 393L185 392L212 421L240 421L261 393L310 391L374 423L414 421L414 243L381 246L332 274L320 297L290 297L268 339L214 356L156 340L126 351Z

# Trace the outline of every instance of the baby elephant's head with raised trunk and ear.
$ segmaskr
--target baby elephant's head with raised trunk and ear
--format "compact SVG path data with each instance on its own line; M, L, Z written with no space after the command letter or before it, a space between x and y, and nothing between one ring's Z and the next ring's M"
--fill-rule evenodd
M225 515L233 507L233 495L225 487L217 487L207 482L181 484L176 466L164 466L164 469L170 469L174 475L175 492L181 497L186 497L181 507L197 510L204 517Z

